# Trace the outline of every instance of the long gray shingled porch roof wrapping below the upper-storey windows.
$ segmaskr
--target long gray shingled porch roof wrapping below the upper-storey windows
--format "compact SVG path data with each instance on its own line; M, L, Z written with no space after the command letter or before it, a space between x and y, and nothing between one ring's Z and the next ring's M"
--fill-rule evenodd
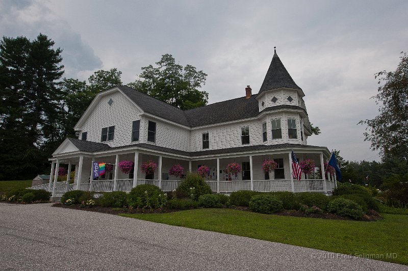
M222 153L234 153L234 152L244 152L244 151L256 151L256 150L269 150L269 149L280 149L280 148L321 148L318 146L310 146L310 145L301 145L301 144L274 144L274 145L252 145L252 146L240 146L240 147L233 147L233 148L224 148L224 149L215 149L215 150L205 150L205 151L181 151L166 147L157 146L154 144L147 144L147 143L137 143L137 144L130 144L125 146L118 146L118 147L110 147L107 144L103 143L96 143L91 141L79 140L68 138L80 151L86 152L99 152L105 150L115 150L115 149L123 149L129 147L140 147L150 150L162 151L167 153L173 154L180 154L185 156L201 156L201 155L211 155L211 154L222 154Z

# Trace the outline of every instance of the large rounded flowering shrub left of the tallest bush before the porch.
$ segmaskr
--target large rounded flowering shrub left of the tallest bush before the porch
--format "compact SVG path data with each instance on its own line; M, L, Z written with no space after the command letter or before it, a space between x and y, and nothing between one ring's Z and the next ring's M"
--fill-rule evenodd
M159 198L159 195L162 196ZM165 195L156 185L141 184L127 195L127 204L133 208L159 208L163 205L164 198Z

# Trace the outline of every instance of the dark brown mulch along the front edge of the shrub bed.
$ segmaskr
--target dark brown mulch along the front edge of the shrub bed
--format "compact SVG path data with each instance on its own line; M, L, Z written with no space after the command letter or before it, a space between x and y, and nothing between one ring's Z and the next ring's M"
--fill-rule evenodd
M101 206L93 206L93 207L82 207L80 204L73 204L73 205L64 205L64 204L54 204L54 207L60 208L67 208L67 209L75 209L75 210L83 210L83 211L91 211L91 212L101 212L101 213L109 213L109 214L119 214L119 213L168 213L168 212L177 212L180 210L175 209L131 209L131 208L112 208L112 207L101 207ZM230 209L236 209L241 211L251 211L248 207L245 206L231 206ZM276 215L286 215L286 216L297 216L302 218L319 218L319 219L334 219L334 220L353 220L351 218L347 218L345 216L340 216L334 213L310 213L306 214L303 211L296 211L296 210L283 210L280 212L274 213ZM365 214L360 221L377 221L381 220L382 217L375 211L369 211L368 214Z

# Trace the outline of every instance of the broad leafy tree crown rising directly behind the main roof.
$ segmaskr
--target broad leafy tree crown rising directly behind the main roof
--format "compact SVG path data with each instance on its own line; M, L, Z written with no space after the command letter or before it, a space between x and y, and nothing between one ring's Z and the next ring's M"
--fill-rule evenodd
M172 55L163 55L157 67L142 67L135 82L128 86L182 110L206 105L208 93L198 90L206 84L207 74L191 65L175 62Z

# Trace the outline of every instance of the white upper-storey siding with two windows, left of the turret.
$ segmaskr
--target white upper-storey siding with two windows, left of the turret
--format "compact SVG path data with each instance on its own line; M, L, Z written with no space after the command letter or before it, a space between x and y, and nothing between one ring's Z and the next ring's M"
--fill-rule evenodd
M262 127L259 120L226 124L191 131L190 151L202 150L202 133L209 133L210 150L248 146L241 143L241 127L249 126L249 145L262 144Z

